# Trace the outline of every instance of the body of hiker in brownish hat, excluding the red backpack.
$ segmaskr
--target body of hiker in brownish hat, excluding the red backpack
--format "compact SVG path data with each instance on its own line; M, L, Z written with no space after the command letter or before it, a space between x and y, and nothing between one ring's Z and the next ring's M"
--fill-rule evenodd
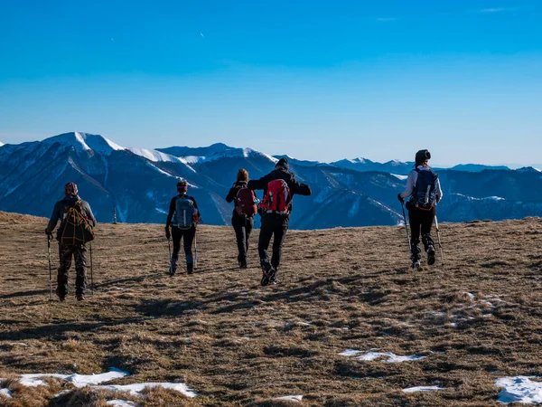
M246 188L248 184L248 171L244 168L238 170L237 181L235 184L229 188L228 196L226 196L226 202L230 203L233 201L233 214L231 215L231 226L235 232L235 237L238 243L238 264L239 269L247 269L247 253L248 253L248 241L250 239L250 232L254 227L254 214L256 213L243 213L243 210L240 208L238 203L239 190L241 188ZM253 204L255 202L256 195L254 192L251 192L252 197L248 195L248 199L252 199L248 204ZM250 208L248 208L250 209Z

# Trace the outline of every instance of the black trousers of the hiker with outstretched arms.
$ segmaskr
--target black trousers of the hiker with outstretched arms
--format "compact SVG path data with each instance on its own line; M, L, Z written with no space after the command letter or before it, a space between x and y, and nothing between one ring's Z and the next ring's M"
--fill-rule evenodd
M262 217L262 227L257 242L257 251L260 258L260 264L265 270L270 270L271 267L278 270L280 258L282 256L282 245L285 241L287 230L288 219L284 215L267 213ZM271 261L269 261L267 248L269 247L272 236L275 236L273 241L273 257L271 258Z

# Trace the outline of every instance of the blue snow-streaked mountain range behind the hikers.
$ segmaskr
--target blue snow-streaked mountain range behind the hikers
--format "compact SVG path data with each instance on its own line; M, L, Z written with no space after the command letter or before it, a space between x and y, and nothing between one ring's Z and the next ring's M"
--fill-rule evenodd
M224 197L238 168L258 178L280 157L225 144L126 148L77 132L19 145L0 143L0 210L49 216L62 186L73 181L98 222L111 222L114 208L120 222L165 222L176 179L182 177L201 207L203 222L229 224L232 206ZM412 163L288 158L295 177L313 189L310 197L294 198L293 228L402 222L397 193ZM542 216L542 173L535 168L463 165L440 169L439 176L445 195L438 208L441 222Z

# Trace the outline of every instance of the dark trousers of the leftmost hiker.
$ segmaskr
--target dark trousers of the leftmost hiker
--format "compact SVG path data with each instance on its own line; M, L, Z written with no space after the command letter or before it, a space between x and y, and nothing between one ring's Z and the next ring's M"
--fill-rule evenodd
M68 294L68 271L71 267L71 256L75 259L75 295L85 294L87 289L87 248L85 245L71 246L59 243L60 265L57 284L61 297L66 297Z

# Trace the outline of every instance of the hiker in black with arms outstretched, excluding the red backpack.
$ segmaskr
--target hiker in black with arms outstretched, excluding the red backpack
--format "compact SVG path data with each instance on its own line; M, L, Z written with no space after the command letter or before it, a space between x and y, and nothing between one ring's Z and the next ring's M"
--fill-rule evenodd
M294 175L288 171L288 159L281 158L276 163L275 169L269 174L263 176L257 180L248 181L248 188L250 189L263 189L264 200L260 204L260 214L262 216L262 227L260 229L259 240L257 243L257 251L260 258L260 265L262 266L262 286L267 284L276 283L276 274L280 267L280 258L282 255L282 246L285 241L286 231L288 230L288 224L290 222L290 214L292 213L292 197L294 194L310 195L311 188L309 185L299 184ZM274 211L265 208L266 200L268 198L267 189L269 183L274 180L283 180L288 186L289 194L286 199L285 211ZM275 235L273 241L273 257L269 261L267 255L267 248L271 237Z

